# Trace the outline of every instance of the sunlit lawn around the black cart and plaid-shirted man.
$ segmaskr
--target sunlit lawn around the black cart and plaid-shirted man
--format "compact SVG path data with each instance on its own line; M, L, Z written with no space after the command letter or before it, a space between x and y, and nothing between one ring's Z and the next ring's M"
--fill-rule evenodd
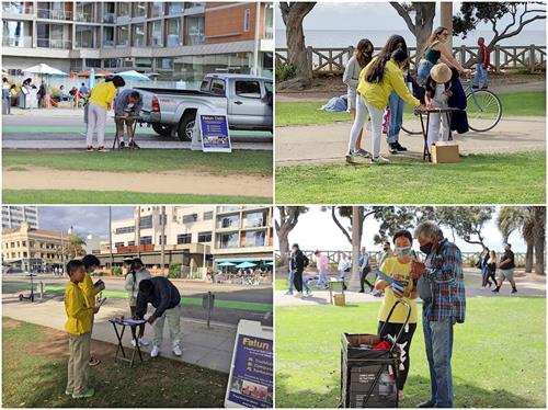
M276 407L335 408L343 332L375 333L378 303L276 308ZM496 312L504 312L496 318ZM430 398L422 324L411 346L401 407ZM467 300L455 328L455 407L546 407L546 299Z

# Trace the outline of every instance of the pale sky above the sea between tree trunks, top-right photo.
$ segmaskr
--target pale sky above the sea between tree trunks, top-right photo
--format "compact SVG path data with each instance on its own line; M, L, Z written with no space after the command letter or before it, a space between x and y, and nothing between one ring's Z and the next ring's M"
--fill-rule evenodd
M459 1L453 2L453 13L460 9ZM437 2L439 4L439 2ZM285 29L276 5L276 29ZM510 18L506 19L510 21ZM506 20L503 20L504 22ZM434 26L439 23L439 5L437 5ZM527 25L524 30L545 30L545 20L539 20ZM305 18L305 30L389 30L401 27L407 31L403 19L388 2L363 1L363 2L332 2L321 1L315 5L312 11ZM481 23L478 30L490 30L490 26Z

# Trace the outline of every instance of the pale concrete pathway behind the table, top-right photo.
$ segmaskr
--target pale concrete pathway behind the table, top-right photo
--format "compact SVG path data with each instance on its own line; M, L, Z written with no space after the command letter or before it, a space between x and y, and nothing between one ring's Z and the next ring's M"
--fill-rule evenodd
M310 163L344 163L352 124L334 123L311 126L276 128L276 166ZM461 153L501 153L546 149L545 117L503 117L489 133L469 132L454 135ZM409 148L408 157L422 160L422 135L401 134L401 144ZM366 132L363 147L370 150L370 132ZM390 157L387 144L381 155ZM397 155L395 157L401 157Z

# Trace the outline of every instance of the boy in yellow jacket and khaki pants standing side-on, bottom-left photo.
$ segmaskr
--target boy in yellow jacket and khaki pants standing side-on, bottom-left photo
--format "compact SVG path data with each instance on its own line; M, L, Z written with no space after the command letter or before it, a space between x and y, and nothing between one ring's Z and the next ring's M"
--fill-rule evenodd
M99 307L91 307L80 284L85 276L85 265L72 260L67 263L70 282L65 291L65 330L69 335L68 380L65 394L75 399L92 397L95 390L88 387L88 369L91 346L91 318Z

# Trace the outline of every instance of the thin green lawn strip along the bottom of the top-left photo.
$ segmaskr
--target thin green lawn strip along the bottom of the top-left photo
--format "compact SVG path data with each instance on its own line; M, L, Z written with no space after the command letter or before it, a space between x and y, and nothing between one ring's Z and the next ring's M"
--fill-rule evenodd
M151 194L132 191L3 190L5 204L270 204L263 196Z

